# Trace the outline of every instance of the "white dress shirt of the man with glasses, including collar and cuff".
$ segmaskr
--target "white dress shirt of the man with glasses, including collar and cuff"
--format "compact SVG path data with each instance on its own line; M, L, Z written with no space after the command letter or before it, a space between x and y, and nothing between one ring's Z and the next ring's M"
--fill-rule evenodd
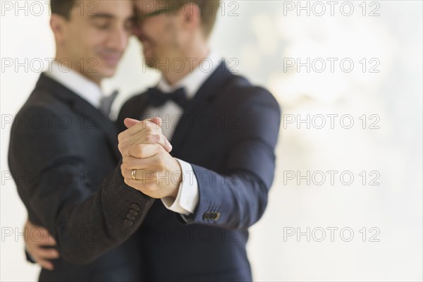
M157 88L166 93L173 92L183 87L185 88L187 98L192 99L210 75L216 71L220 63L221 57L211 52L207 59L204 59L200 63L200 66L193 69L185 78L173 85L169 85L162 77L157 84ZM178 125L178 121L183 114L183 110L175 102L168 101L160 107L149 107L146 114L151 117L159 116L162 119L161 132L170 141ZM191 164L180 159L176 160L178 160L183 172L182 183L180 183L178 195L175 200L173 200L172 197L164 197L161 199L161 202L163 202L167 209L173 212L183 215L193 214L199 198L197 178L195 178Z

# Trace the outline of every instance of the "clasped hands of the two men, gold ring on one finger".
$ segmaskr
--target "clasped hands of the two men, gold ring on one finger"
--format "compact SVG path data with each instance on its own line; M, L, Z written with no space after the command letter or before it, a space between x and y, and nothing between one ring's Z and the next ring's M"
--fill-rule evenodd
M179 162L169 154L172 145L161 133L161 118L125 118L128 128L118 135L125 183L145 195L176 198L182 181Z

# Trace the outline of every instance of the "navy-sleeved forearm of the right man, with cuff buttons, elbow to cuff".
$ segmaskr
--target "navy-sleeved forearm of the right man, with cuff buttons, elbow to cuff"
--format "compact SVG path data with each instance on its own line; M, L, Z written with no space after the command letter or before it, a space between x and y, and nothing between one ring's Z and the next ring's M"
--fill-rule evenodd
M264 213L269 187L247 171L223 175L192 165L199 185L200 201L188 223L244 229ZM207 177L205 177L207 175Z

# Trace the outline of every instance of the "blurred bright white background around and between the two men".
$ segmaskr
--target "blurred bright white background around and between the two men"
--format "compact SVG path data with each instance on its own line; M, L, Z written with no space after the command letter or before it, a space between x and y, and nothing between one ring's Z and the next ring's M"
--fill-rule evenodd
M1 1L1 281L34 281L39 271L25 261L16 232L26 211L6 176L9 118L40 70L6 61L54 56L47 1L39 16L35 6L16 11L18 2L27 1ZM223 2L213 49L283 108L276 179L248 245L255 281L422 281L422 9L422 1ZM104 84L120 90L115 113L159 78L143 70L140 48L131 39ZM309 128L298 123L307 115Z

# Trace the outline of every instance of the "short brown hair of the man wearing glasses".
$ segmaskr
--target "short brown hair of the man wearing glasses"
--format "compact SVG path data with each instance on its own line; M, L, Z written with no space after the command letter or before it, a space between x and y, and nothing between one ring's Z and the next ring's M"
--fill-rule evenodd
M171 6L183 6L185 4L197 4L200 9L201 23L204 35L209 37L212 33L214 23L216 23L216 15L219 10L220 0L159 0L166 2Z

